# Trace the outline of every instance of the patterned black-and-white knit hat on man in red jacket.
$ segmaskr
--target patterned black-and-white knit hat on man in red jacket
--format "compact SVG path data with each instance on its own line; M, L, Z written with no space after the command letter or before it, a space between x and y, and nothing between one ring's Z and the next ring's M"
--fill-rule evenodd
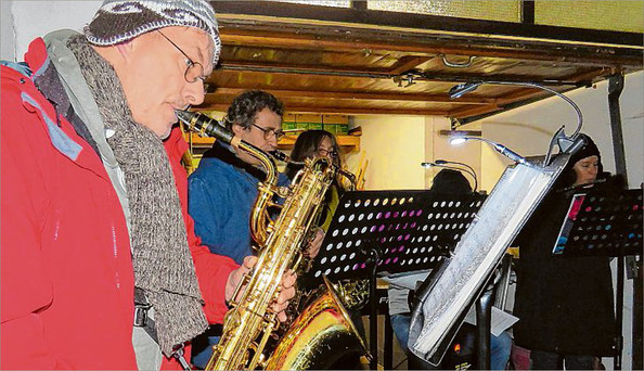
M215 43L212 65L217 64L221 40L215 11L204 0L106 0L85 27L85 36L89 42L105 47L168 26L196 27L208 33Z

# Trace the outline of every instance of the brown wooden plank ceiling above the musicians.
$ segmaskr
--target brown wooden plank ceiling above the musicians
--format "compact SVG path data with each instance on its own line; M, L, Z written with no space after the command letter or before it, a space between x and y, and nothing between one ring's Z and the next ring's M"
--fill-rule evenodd
M247 89L292 113L439 115L455 123L642 69L642 34L268 1L211 1L223 43L197 110L226 111ZM364 8L364 7L361 7Z

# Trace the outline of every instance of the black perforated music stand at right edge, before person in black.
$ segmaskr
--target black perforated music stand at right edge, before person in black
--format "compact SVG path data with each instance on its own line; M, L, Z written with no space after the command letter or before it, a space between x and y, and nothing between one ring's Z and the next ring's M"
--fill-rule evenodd
M576 205L577 203L577 205ZM615 370L621 370L624 256L642 255L642 190L606 190L596 184L576 194L553 256L617 257Z

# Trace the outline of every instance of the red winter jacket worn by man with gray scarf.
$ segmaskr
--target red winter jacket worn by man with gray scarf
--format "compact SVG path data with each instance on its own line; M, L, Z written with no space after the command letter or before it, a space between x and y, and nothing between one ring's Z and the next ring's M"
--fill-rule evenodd
M25 57L33 71L47 63L41 39ZM130 244L103 164L28 77L2 66L0 91L0 368L137 369ZM237 266L198 246L179 164L185 143L172 138L166 148L205 312L220 322L226 280Z

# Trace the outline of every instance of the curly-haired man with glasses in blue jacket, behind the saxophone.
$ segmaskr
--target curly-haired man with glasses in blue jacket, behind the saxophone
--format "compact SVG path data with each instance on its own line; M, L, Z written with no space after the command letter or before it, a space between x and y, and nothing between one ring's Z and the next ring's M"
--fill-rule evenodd
M275 97L250 90L233 100L226 126L236 137L268 153L278 149L278 142L284 136L283 112L283 104ZM189 212L195 220L197 235L211 253L230 256L236 263L254 254L248 222L258 184L266 177L258 164L258 159L245 151L216 141L189 178ZM280 174L278 186L288 182ZM318 254L323 238L322 231L315 233L307 250L309 258ZM219 338L217 331L211 329L209 334L195 340L204 347L193 356L195 366L206 366L212 354L211 346Z

